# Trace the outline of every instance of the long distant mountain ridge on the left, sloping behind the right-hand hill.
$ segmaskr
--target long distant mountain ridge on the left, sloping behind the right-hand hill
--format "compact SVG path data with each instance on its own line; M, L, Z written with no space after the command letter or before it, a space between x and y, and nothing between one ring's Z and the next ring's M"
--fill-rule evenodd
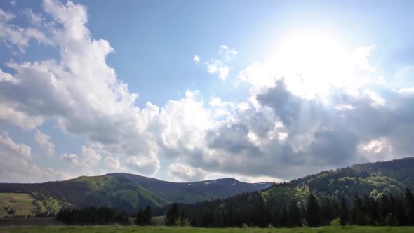
M115 206L135 213L148 204L161 207L175 201L194 203L257 191L271 185L270 182L249 184L232 178L180 183L111 173L39 184L3 183L0 192L31 194L49 213L57 213L62 206Z

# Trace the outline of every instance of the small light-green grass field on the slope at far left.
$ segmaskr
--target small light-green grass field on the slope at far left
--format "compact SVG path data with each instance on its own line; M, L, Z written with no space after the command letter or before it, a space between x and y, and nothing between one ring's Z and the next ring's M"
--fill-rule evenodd
M33 214L34 208L34 199L29 194L0 193L0 218Z

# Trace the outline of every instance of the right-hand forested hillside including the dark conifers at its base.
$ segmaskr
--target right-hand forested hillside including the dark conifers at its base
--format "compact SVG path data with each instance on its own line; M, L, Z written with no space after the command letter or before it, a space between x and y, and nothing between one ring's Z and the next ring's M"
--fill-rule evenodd
M346 224L411 225L413 179L414 158L406 158L323 171L260 192L179 206L192 225L203 227L297 227L309 225L313 215L318 225L340 221L341 216ZM309 211L309 200L314 210Z

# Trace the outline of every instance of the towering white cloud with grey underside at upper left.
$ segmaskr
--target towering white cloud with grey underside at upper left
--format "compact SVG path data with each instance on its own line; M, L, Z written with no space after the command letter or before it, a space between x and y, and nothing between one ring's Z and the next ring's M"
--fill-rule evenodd
M158 107L151 103L145 109L135 107L138 94L130 93L105 61L113 48L105 40L93 39L85 27L84 6L49 0L43 6L52 19L43 29L59 49L60 60L6 63L14 74L1 72L0 121L28 130L52 119L62 132L94 145L98 154L147 153L151 140L147 127L156 120ZM85 152L91 155L88 149ZM98 160L91 158L92 164Z

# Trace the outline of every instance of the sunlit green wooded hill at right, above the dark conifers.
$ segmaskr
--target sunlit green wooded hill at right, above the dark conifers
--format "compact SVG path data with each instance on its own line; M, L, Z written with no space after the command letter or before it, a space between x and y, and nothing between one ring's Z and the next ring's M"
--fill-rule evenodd
M335 171L274 185L263 191L274 202L291 201L292 197L305 200L312 191L319 197L351 199L356 193L372 197L382 194L403 194L406 187L414 187L414 158L405 158L373 164L356 164Z

